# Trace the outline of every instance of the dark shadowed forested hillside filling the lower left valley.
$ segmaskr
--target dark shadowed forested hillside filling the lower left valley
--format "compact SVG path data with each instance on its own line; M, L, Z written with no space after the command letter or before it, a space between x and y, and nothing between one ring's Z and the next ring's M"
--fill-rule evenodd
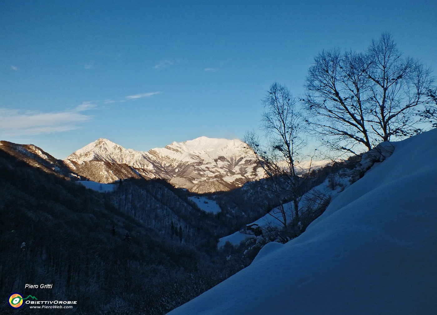
M218 218L161 181L100 194L0 149L0 213L5 314L12 292L77 301L71 314L164 314L243 267L216 249Z

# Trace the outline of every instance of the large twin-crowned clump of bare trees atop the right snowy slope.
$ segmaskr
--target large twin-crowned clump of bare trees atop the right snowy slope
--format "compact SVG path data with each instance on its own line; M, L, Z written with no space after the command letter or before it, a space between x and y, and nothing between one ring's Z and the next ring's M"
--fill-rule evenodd
M418 113L430 100L433 81L431 70L403 58L387 33L365 53L323 51L306 79L308 122L333 149L370 150L422 131Z

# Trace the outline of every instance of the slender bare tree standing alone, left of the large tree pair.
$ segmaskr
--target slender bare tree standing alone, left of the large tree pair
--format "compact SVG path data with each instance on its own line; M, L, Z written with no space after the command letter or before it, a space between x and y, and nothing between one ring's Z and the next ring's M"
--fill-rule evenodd
M277 198L281 221L287 230L284 198L293 203L294 221L299 222L299 197L303 180L296 170L297 159L305 145L302 126L305 121L298 110L297 100L287 87L273 83L262 100L264 114L261 129L264 137L247 132L244 141L257 157L269 178L270 190ZM311 166L310 166L311 167Z

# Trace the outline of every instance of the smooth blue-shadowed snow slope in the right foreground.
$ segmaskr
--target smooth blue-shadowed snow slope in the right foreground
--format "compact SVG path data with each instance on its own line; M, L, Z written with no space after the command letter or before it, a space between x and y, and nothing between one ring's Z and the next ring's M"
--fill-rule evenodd
M437 130L394 145L301 236L169 314L436 314Z

